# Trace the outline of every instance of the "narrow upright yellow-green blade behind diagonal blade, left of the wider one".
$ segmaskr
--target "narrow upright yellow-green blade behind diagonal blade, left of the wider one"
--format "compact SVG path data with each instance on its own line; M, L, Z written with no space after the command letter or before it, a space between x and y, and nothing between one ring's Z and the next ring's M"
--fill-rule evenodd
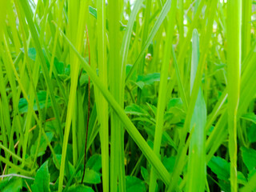
M98 73L99 78L104 83L104 86L108 87L107 81L107 62L106 62L106 5L102 0L97 1L98 8ZM110 170L109 170L109 110L108 103L106 99L99 93L97 88L95 98L98 107L98 118L101 122L100 127L100 137L101 137L101 151L102 151L102 188L103 191L109 191L109 182L110 182Z

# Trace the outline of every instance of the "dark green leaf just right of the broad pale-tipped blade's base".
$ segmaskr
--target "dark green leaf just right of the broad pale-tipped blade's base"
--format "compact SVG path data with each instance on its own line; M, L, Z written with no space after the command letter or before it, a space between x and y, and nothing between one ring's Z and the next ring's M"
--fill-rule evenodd
M212 157L208 163L210 170L217 174L219 179L228 181L230 178L230 163L220 157Z

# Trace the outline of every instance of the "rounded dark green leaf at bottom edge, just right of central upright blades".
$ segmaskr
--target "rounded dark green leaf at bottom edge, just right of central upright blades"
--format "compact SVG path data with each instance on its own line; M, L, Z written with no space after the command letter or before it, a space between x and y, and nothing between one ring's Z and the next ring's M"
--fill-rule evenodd
M139 178L126 176L126 191L127 192L143 192L146 191L145 183Z

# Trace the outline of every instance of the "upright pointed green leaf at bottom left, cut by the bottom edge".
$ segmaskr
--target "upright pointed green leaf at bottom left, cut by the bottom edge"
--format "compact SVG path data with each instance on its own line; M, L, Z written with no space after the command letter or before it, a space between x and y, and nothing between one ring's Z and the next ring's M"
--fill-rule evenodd
M33 192L50 192L50 174L48 161L44 162L35 175L34 184L31 186Z

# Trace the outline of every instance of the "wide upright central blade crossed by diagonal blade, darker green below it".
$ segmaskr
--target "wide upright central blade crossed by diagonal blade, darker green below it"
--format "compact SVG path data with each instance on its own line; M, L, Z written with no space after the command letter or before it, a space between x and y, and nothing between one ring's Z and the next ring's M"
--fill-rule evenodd
M110 93L122 107L120 83L122 78L122 60L120 57L121 33L119 30L119 15L121 2L111 0L109 2L109 41L110 41L110 60L109 60L109 79ZM122 122L118 119L118 114L110 110L111 122L111 141L110 141L110 191L126 190L125 165L124 165L124 129Z

